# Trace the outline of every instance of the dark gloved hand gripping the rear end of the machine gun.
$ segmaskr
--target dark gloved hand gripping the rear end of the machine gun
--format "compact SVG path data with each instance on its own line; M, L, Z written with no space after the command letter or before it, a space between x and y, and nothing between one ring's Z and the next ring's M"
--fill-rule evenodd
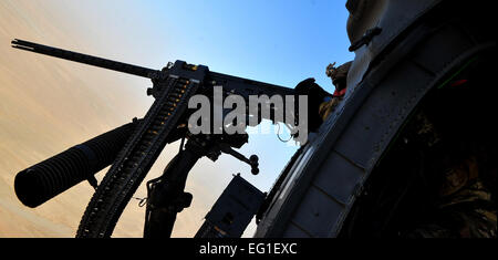
M300 82L294 90L295 95L308 96L308 115L305 115L308 116L308 128L310 132L317 132L323 123L322 117L320 116L320 105L330 100L332 95L317 84L313 77ZM295 101L298 101L298 98L295 98Z

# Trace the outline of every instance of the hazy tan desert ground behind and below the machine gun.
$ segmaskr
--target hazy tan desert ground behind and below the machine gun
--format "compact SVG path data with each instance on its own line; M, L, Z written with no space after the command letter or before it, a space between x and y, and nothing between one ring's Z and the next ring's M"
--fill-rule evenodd
M73 237L92 188L80 184L31 209L14 195L15 174L142 116L152 104L145 96L147 81L10 48L10 41L19 38L92 53L91 42L79 41L55 10L50 1L0 1L0 237ZM159 175L176 150L177 146L165 149L148 178ZM214 167L206 165L207 169L197 171ZM207 212L206 205L221 193L200 188L199 181L205 180L209 178L199 176L189 184L188 190L198 196L178 219L174 236L193 236ZM146 196L143 187L137 196ZM143 219L143 208L133 201L114 236L141 237Z

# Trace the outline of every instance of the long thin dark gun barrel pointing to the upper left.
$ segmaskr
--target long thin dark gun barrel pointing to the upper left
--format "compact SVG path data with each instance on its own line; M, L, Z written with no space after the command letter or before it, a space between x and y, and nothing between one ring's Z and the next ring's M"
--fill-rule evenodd
M84 63L93 66L104 67L113 71L118 71L127 74L133 74L137 76L155 79L160 71L152 70L143 66L132 65L123 62L116 62L112 60L106 60L97 56L86 55L77 52L66 51L53 46L46 46L33 42L28 42L23 40L15 39L12 41L12 48L20 49L23 51L35 52L40 54L45 54L50 56L56 56L64 60L70 60L73 62Z

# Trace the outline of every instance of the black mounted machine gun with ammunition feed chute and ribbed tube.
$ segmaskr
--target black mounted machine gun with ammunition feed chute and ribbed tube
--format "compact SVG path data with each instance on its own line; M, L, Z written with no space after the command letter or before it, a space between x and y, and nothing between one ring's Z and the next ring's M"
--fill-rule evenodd
M38 207L87 179L96 191L81 220L76 235L80 238L112 235L126 204L165 145L172 142L181 139L180 152L162 177L147 184L145 237L170 236L177 212L189 207L191 201L191 195L184 193L188 171L203 156L216 160L221 153L227 153L248 163L252 174L259 173L256 155L246 158L232 149L248 142L247 134L194 135L188 131L188 117L193 113L188 101L191 96L199 93L209 96L217 85L222 86L224 96L237 94L246 101L251 95L294 95L292 89L211 72L207 66L184 61L169 63L159 71L22 40L12 41L12 46L147 77L153 82L147 95L153 95L155 102L143 119L135 118L132 124L74 146L20 171L15 177L18 198L29 207ZM250 115L251 112L246 113ZM276 119L271 113L261 116ZM188 141L184 146L185 139ZM94 174L111 163L110 170L97 185Z

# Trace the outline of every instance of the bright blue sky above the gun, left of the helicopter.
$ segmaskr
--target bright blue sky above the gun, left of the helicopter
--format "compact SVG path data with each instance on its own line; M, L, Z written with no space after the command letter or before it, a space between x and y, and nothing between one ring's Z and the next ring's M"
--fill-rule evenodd
M352 59L344 1L181 1L153 4L181 44L180 56L211 70L293 87L313 76L332 91L324 69ZM159 35L168 31L160 30Z

